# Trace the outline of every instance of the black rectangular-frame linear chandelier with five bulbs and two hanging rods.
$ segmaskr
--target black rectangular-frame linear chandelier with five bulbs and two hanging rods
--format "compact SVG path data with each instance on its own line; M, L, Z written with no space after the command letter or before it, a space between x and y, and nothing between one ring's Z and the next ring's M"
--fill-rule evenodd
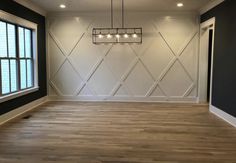
M93 28L92 39L94 44L106 43L142 43L142 28L125 28L124 0L122 0L122 27L114 28L113 0L111 0L111 27Z

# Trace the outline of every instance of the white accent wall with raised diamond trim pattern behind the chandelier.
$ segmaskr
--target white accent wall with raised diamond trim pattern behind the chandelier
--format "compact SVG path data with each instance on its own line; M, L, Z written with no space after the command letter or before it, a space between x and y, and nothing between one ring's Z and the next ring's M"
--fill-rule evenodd
M48 88L52 99L197 101L199 17L194 13L126 13L143 27L143 43L92 43L109 14L62 13L48 18ZM115 26L121 20L115 14Z

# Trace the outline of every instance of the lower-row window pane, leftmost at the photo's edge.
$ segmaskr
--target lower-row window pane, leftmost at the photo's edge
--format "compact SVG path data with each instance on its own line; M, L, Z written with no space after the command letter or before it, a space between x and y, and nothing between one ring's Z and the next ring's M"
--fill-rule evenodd
M1 60L2 94L10 93L9 61Z

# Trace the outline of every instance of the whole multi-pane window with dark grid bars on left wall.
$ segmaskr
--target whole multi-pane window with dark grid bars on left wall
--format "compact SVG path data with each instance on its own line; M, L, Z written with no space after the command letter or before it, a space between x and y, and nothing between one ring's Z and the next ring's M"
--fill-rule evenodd
M1 19L0 12L0 102L37 88L33 28ZM15 17L13 20L18 20Z

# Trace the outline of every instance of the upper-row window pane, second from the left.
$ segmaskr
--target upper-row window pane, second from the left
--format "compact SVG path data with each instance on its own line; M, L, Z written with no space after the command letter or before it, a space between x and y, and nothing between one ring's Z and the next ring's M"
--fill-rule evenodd
M9 57L16 57L16 31L12 24L7 25L8 30L8 53Z

